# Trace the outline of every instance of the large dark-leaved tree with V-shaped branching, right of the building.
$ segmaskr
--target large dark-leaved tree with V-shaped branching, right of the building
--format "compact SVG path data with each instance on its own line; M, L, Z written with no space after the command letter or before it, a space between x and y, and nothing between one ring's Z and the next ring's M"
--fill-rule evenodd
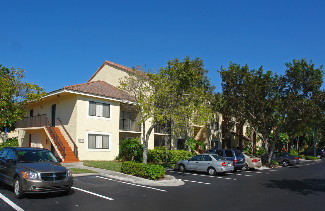
M227 102L256 128L268 162L282 129L290 122L315 118L318 111L313 98L323 83L322 66L315 69L312 61L293 59L286 67L283 76L263 73L262 66L250 71L247 64L231 62L228 69L218 71Z

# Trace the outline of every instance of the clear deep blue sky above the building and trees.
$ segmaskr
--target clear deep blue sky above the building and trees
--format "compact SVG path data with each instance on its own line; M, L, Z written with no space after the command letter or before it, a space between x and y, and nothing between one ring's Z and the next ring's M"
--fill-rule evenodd
M85 83L109 60L165 66L200 57L283 74L292 59L325 65L325 1L1 1L0 64L50 92ZM325 86L321 87L324 89Z

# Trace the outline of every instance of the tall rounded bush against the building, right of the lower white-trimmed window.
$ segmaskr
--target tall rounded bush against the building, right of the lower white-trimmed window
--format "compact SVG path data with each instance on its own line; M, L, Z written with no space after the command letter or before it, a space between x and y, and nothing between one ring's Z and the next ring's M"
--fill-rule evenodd
M117 160L129 161L142 161L143 147L138 141L138 138L126 138L119 144L119 154Z

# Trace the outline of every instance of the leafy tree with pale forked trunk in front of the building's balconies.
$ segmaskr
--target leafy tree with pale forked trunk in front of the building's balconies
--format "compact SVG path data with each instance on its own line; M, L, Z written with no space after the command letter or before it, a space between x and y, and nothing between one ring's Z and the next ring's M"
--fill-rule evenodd
M181 130L188 121L205 122L206 116L211 116L206 111L213 86L203 66L201 59L186 57L169 60L166 67L148 73L137 66L120 79L119 88L132 96L141 115L143 163L147 163L149 136L156 125L172 120L174 130ZM147 131L146 122L150 123Z

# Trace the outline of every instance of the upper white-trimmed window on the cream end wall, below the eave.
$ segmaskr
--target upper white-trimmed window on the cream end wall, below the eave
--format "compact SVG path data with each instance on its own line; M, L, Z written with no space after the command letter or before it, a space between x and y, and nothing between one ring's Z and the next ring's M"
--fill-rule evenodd
M87 118L111 120L110 104L104 100L87 99Z

